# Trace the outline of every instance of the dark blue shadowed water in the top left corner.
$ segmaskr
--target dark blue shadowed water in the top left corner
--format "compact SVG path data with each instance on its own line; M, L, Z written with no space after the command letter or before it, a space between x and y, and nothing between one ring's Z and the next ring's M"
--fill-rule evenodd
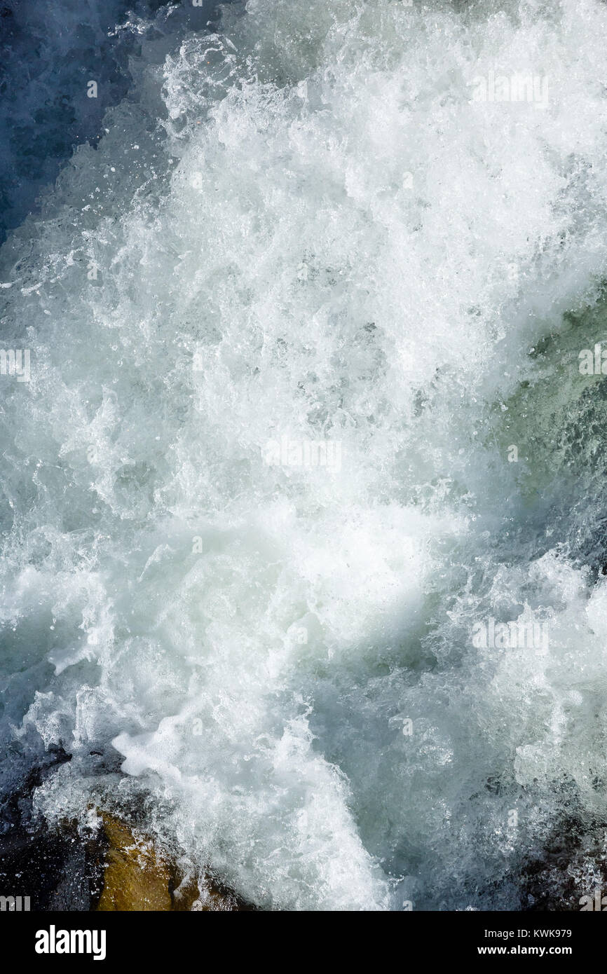
M36 210L75 146L95 144L127 97L144 27L204 30L216 4L169 0L7 0L0 7L0 243ZM88 82L97 97L88 96Z

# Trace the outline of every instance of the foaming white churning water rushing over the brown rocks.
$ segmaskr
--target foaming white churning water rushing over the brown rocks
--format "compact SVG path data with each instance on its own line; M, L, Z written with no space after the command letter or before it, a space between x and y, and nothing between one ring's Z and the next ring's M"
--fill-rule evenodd
M60 748L35 816L138 808L263 909L577 902L607 7L185 6L110 25L124 91L0 253L2 792Z

